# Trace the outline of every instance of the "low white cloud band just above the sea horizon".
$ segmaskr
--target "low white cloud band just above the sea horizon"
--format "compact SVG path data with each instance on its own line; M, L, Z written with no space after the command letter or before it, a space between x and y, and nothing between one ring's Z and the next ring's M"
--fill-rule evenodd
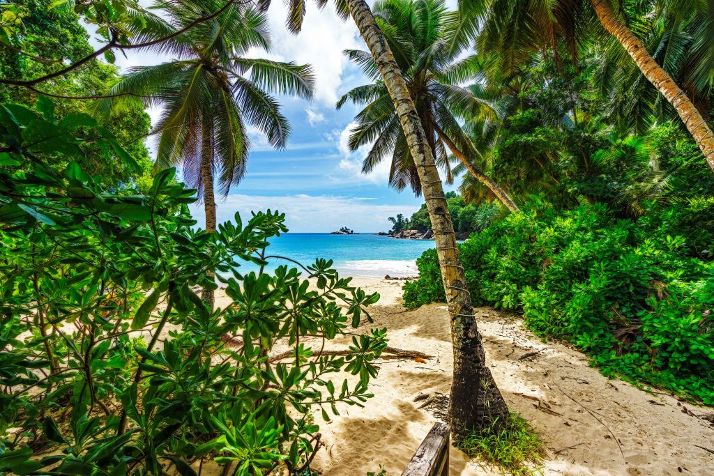
M373 203L369 198L343 196L291 196L229 195L226 201L218 201L218 223L232 221L238 212L247 221L251 211L266 211L268 208L286 213L286 224L293 232L330 232L341 226L355 231L373 232L388 228L387 218L403 213L411 216L418 205L392 205ZM193 218L202 226L205 220L203 206L191 206Z

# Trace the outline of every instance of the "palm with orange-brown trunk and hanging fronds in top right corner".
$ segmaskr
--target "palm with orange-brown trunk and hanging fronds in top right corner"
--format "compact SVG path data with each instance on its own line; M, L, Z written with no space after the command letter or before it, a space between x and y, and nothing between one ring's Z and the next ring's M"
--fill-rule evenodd
M675 6L678 10L700 9L700 2L695 1L683 4L681 1L654 0L652 3L653 8L664 5L670 8ZM591 26L599 21L627 51L641 74L673 106L698 144L708 166L714 170L714 133L695 104L653 59L625 21L615 14L609 0L590 0L589 4L590 8L579 0L461 0L458 26L453 29L455 33L451 43L471 44L476 39L479 51L498 51L503 71L515 71L535 51L553 49L557 57L559 42L567 47L572 56L576 56L578 43L596 34Z

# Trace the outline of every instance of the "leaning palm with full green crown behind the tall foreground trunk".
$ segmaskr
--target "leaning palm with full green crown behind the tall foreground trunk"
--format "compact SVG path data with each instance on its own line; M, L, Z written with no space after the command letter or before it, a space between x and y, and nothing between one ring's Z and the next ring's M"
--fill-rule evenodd
M476 91L480 85L458 86L473 79L480 60L476 56L459 59L461 49L447 52L446 21L449 12L443 0L383 0L375 4L376 21L392 51L398 51L396 62L413 96L418 116L426 132L437 164L448 175L448 151L461 161L473 178L490 189L508 209L518 211L508 193L476 166L476 149L461 127L463 120L488 118L493 121L498 112L482 101ZM387 88L379 79L372 56L366 51L348 50L347 56L361 66L374 83L348 91L337 103L346 101L365 106L356 116L356 127L349 138L353 150L374 141L363 163L368 173L391 156L389 183L401 190L407 185L421 193L413 157L406 146L406 136L399 123Z

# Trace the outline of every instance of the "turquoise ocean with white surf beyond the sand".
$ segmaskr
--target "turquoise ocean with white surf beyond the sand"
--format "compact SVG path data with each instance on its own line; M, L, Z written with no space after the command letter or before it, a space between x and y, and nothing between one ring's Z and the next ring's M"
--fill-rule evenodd
M416 258L434 248L433 240L401 240L372 233L331 235L329 233L285 233L270 240L267 255L281 255L310 265L316 258L331 259L341 275L406 277L417 275ZM266 269L288 264L271 259ZM257 270L252 263L241 266L243 272Z

